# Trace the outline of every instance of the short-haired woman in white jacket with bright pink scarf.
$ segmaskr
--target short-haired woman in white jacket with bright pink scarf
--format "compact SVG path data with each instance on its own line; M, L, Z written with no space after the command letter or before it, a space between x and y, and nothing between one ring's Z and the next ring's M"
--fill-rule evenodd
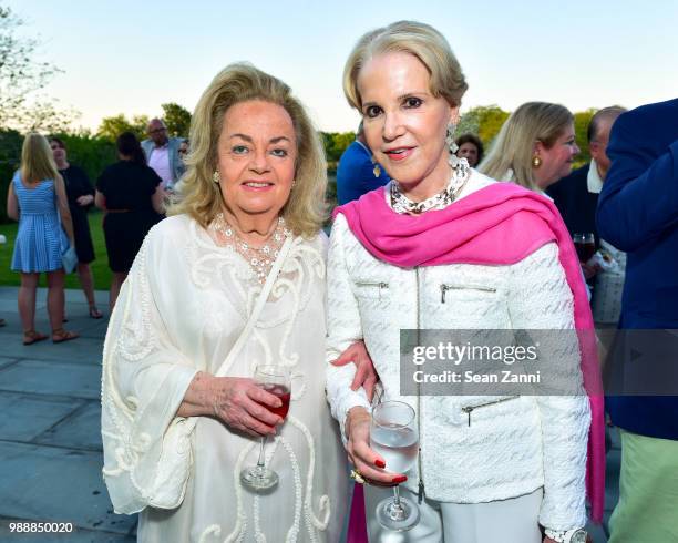
M370 447L371 404L351 390L355 367L328 365L353 478L368 483L370 541L585 541L587 493L592 518L603 512L602 399L586 290L559 215L543 196L456 158L452 133L466 83L435 29L401 21L367 33L343 89L391 182L337 211L327 358L363 339L381 399L414 410L420 443L410 471L389 471ZM576 329L575 348L557 365L588 397L402 395L401 329ZM400 533L374 514L391 493L383 486L397 483L420 512ZM360 536L353 523L349 540Z

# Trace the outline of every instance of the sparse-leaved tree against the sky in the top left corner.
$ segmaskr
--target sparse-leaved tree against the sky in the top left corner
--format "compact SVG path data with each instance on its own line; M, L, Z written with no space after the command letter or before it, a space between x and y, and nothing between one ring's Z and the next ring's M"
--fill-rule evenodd
M0 6L0 129L63 129L74 112L39 93L61 70L34 59L38 40L17 35L22 19Z

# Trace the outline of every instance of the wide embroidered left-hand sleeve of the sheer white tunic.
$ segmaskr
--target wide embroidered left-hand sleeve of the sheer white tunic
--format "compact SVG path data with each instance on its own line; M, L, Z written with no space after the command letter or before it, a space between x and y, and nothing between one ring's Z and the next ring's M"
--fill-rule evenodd
M103 474L117 513L163 506L167 489L183 488L185 473L166 473L165 432L197 369L173 347L156 305L162 250L154 228L134 260L111 316L102 368ZM174 254L179 252L174 250ZM162 267L161 267L162 260ZM165 295L170 289L164 289ZM189 462L189 443L175 443ZM187 447L188 445L188 447ZM183 493L182 493L183 495Z

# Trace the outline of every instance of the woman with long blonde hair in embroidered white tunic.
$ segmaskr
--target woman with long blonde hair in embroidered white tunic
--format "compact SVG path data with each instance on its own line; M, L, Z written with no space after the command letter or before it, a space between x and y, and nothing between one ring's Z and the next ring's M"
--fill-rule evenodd
M205 91L191 142L184 199L145 239L106 337L111 499L141 511L140 541L338 541L348 498L323 391L317 133L287 85L235 64ZM290 370L285 421L251 379L259 363ZM279 475L266 494L239 479L261 436Z

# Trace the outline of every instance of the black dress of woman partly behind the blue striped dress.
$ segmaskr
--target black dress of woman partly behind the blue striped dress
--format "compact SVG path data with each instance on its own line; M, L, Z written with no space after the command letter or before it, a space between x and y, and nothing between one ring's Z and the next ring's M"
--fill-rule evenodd
M60 170L59 173L63 177L63 184L65 185L66 197L69 199L78 260L81 263L91 263L94 260L94 246L92 245L92 235L90 234L88 209L92 204L82 206L78 204L78 198L86 195L94 196L94 188L92 187L92 183L90 183L88 174L84 173L84 170L81 167L69 164L69 167Z

